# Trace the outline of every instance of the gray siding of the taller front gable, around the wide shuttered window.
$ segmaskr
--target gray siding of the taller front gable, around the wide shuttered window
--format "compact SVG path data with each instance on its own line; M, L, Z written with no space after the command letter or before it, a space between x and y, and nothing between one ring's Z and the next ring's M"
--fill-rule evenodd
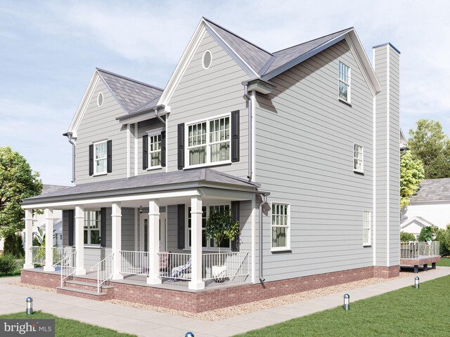
M212 53L212 64L209 69L204 70L202 56L207 50ZM210 34L206 34L169 101L172 112L167 122L168 171L175 171L178 167L177 124L240 110L240 161L214 166L214 169L241 178L247 176L248 110L241 85L247 79L248 75L242 68Z

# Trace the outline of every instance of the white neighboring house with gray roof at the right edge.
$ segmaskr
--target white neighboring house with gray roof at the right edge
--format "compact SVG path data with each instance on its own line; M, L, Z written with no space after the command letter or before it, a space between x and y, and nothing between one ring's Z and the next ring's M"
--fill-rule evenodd
M409 201L409 206L401 211L404 232L416 234L413 230L419 229L419 223L422 227L435 225L442 229L450 224L450 178L423 180L420 190Z

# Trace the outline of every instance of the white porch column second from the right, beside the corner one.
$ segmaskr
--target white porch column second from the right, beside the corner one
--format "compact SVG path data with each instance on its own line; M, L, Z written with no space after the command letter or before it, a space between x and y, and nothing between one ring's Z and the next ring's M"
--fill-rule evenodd
M148 284L160 284L160 201L148 201Z

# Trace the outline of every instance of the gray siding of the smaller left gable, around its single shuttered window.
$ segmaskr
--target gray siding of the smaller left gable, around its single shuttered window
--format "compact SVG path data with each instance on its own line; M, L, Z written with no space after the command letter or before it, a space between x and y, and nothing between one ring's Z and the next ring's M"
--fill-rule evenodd
M97 106L97 95L100 92L103 93L102 107ZM127 128L115 119L123 114L122 107L100 80L77 131L77 184L127 177ZM106 138L113 140L113 172L103 176L89 176L89 145Z

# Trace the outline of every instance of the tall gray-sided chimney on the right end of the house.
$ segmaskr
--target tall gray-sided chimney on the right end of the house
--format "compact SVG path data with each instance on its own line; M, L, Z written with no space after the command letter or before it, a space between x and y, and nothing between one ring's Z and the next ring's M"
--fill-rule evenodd
M384 89L375 103L376 263L399 265L399 54L385 45L375 48L374 55L375 73Z

